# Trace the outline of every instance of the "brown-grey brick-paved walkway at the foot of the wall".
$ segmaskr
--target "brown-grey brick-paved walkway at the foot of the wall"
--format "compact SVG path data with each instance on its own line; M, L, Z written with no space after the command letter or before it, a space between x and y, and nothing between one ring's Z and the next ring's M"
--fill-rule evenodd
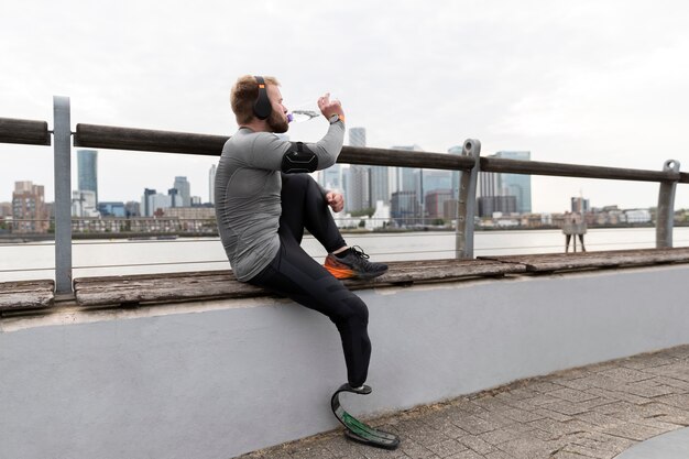
M689 346L521 381L371 424L401 435L401 447L360 446L337 430L242 458L614 458L689 426Z

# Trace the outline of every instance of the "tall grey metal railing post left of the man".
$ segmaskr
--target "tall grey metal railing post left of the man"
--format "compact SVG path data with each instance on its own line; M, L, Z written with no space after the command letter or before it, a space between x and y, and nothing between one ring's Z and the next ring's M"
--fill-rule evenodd
M69 98L53 96L55 293L72 294L72 128Z

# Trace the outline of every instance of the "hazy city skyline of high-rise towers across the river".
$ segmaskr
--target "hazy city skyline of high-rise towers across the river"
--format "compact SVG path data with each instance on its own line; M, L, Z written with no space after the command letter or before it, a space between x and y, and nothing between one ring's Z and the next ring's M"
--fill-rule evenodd
M357 146L365 146L365 128L352 128L354 131L354 138L359 140L354 140ZM350 136L351 143L351 136ZM411 150L423 152L424 150L417 145L395 145L392 146L395 150ZM457 154L459 146L450 147L448 153ZM91 209L91 214L98 207L100 210L100 204L112 205L112 204L128 204L128 203L139 203L141 204L141 214L145 215L143 210L146 206L144 205L146 193L151 192L153 195L157 196L156 207L158 208L173 208L173 207L193 207L200 205L208 205L212 203L212 188L215 181L215 170L216 164L211 164L210 168L206 173L206 189L208 189L208 198L190 194L190 182L187 181L186 176L175 176L174 184L172 188L167 188L167 194L156 192L156 188L149 188L146 186L143 187L144 197L139 196L139 198L123 198L121 196L116 196L113 199L108 200L99 200L97 198L97 189L98 189L98 151L97 150L83 150L75 149L74 151L77 162L76 175L78 177L77 187L74 189L73 194L73 215L75 216L90 216L89 212L84 212L83 210L75 210L74 200L78 199L81 201L88 201L89 209ZM531 152L514 152L514 151L504 151L497 152L491 156L502 157L502 159L514 159L528 161L531 157ZM423 175L422 175L423 171ZM74 172L74 171L73 171ZM459 173L452 171L439 171L439 170L428 170L428 168L408 168L408 167L380 167L380 166L360 166L359 167L359 181L357 182L358 187L361 189L359 192L354 192L356 194L361 195L361 205L356 208L351 208L351 206L347 206L344 211L358 211L367 208L374 207L374 201L383 200L385 204L390 205L392 201L392 195L395 192L415 192L416 200L419 201L419 206L422 206L422 201L426 198L426 195L430 192L442 192L449 189L451 192L456 192L456 181L459 178ZM351 189L348 189L349 186L352 186L352 167L350 165L336 164L328 170L319 171L318 173L313 174L315 178L321 184L321 186L328 189L337 189L343 192L346 199L351 199L352 193ZM457 177L457 178L456 178ZM497 177L497 178L494 178ZM504 178L501 178L504 177ZM512 178L514 177L514 178ZM378 181L375 179L378 178ZM477 204L478 210L477 216L484 216L482 212L483 203L481 199L485 196L500 196L500 197L514 197L514 204L510 204L508 200L502 200L502 204L491 204L489 209L492 209L488 212L490 215L492 211L505 211L507 214L558 214L559 210L547 211L547 210L538 210L531 208L531 176L529 175L521 175L521 174L496 174L496 173L485 173L481 172L479 176L479 184L477 188ZM349 183L348 183L349 181ZM381 186L383 182L385 185ZM14 183L25 183L33 181L14 181ZM441 184L441 185L439 185ZM74 188L73 183L73 188ZM41 185L45 188L44 185ZM422 192L423 187L423 192ZM165 187L163 187L165 189ZM201 186L203 188L203 186ZM374 188L379 188L375 190ZM383 189L387 189L387 194ZM89 195L91 194L91 195ZM581 190L580 190L581 194ZM455 194L456 196L456 194ZM365 199L364 199L365 198ZM526 204L520 204L526 198ZM435 198L434 198L435 199ZM562 200L562 211L567 211L570 207L569 199L573 199L572 197L565 197ZM194 200L194 203L193 203ZM91 203L92 201L92 203ZM590 199L586 199L587 206ZM52 203L46 200L46 203ZM0 204L10 205L11 200L2 201ZM502 207L501 207L502 206ZM505 207L506 206L506 207ZM604 208L604 207L617 207L617 203L605 203L599 204L594 207ZM627 209L637 209L637 208L653 208L655 206L623 206ZM108 207L110 208L110 207ZM590 208L590 207L587 207ZM681 207L677 207L679 210ZM106 211L106 215L110 214Z

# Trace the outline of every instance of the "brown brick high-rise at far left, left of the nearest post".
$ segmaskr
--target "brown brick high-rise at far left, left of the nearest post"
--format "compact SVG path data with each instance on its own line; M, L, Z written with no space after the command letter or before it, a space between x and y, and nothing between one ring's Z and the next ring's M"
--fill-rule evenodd
M15 182L12 193L12 231L47 232L45 188L32 182Z

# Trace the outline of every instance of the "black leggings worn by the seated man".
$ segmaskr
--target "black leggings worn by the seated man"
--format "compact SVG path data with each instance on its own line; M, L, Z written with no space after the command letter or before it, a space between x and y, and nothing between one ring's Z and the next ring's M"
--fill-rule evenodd
M322 192L308 174L283 174L282 181L280 251L249 283L328 316L342 339L348 381L358 387L367 380L371 358L369 309L299 245L304 228L328 252L344 247L344 240Z

